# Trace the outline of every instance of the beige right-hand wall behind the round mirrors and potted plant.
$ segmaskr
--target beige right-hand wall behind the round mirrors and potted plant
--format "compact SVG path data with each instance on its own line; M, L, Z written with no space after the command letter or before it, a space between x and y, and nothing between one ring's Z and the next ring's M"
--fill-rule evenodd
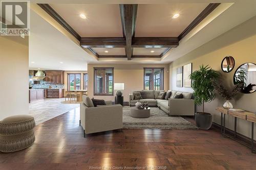
M193 91L191 88L176 87L176 68L187 63L193 63L193 71L199 69L201 64L209 65L215 70L221 71L222 81L228 86L233 86L233 74L236 69L243 63L256 63L256 17L253 17L223 35L209 41L196 50L186 54L182 58L170 63L170 88L173 90ZM225 56L232 56L236 65L230 73L224 73L221 70L221 62ZM214 122L220 124L221 117L215 108L222 106L225 100L219 95L215 101L205 105L206 112L214 114ZM256 111L256 92L252 94L240 94L235 100L232 100L234 108L241 108L251 112ZM197 107L201 110L201 107ZM234 120L232 117L227 118L226 124L229 129L233 130ZM254 129L255 129L254 125ZM238 132L250 136L251 124L246 120L238 119ZM254 132L256 137L256 131ZM254 137L254 139L255 139Z

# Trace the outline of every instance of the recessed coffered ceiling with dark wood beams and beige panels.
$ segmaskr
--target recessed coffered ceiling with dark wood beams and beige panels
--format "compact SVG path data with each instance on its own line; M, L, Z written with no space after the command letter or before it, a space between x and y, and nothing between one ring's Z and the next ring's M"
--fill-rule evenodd
M220 4L38 5L95 57L131 60L163 57Z

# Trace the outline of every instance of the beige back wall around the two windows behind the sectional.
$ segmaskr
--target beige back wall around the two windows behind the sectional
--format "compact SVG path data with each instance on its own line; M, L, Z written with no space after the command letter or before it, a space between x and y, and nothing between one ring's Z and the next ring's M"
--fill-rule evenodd
M89 89L88 95L90 98L104 99L115 101L115 91L113 96L94 96L93 95L93 81L94 81L94 67L114 67L114 83L124 83L123 101L129 101L129 94L131 90L143 89L143 72L144 67L164 67L164 90L168 90L168 65L167 64L88 64Z

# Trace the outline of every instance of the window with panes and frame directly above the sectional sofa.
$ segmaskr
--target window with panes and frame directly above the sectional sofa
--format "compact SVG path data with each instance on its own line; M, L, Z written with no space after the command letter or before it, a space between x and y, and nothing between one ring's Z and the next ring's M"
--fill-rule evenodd
M163 90L164 68L144 68L144 90Z

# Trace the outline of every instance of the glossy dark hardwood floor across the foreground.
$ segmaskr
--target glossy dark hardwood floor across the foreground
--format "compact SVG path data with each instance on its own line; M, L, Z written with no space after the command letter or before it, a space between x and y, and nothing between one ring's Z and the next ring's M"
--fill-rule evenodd
M36 126L35 136L26 150L0 153L0 169L256 169L255 154L215 129L123 129L83 138L76 109Z

